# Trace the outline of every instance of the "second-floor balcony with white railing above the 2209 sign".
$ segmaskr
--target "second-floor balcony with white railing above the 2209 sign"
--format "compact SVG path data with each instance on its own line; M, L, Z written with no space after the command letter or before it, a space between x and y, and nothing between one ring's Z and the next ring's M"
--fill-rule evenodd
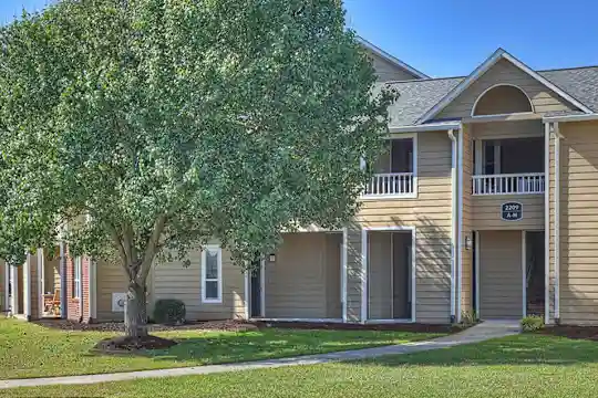
M472 195L544 193L544 138L475 142Z

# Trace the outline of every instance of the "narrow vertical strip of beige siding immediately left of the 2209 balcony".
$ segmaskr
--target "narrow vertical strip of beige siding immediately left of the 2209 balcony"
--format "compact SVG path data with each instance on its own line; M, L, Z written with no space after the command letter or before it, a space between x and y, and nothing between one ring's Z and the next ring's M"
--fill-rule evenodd
M472 311L472 275L473 275L473 250L467 250L465 239L472 238L472 172L473 172L473 140L472 128L470 125L464 125L463 134L463 197L462 197L462 232L460 238L461 245L461 297L455 293L457 301L461 301L461 312ZM457 307L458 308L458 307ZM460 314L457 314L460 315Z

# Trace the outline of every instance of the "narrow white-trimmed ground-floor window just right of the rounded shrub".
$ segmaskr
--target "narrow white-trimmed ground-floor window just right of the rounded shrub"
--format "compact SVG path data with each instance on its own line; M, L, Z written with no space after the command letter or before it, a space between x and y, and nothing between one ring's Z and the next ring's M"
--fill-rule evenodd
M202 302L223 302L223 250L216 244L202 252Z

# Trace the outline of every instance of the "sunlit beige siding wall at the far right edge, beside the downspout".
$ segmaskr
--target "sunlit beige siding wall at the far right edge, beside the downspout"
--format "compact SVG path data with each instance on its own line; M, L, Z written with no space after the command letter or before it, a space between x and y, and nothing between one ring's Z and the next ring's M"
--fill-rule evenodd
M598 123L563 123L559 127L564 137L560 140L560 322L598 324ZM550 193L550 263L554 264L554 176Z

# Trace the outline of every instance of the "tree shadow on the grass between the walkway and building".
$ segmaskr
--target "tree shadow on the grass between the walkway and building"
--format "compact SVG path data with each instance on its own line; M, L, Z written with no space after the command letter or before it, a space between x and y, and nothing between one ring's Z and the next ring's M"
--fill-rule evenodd
M282 358L299 355L332 353L434 338L430 334L362 331L291 331L267 329L207 334L204 336L168 336L178 342L168 349L154 349L116 354L146 357L173 363L198 365ZM89 356L113 354L90 353Z

